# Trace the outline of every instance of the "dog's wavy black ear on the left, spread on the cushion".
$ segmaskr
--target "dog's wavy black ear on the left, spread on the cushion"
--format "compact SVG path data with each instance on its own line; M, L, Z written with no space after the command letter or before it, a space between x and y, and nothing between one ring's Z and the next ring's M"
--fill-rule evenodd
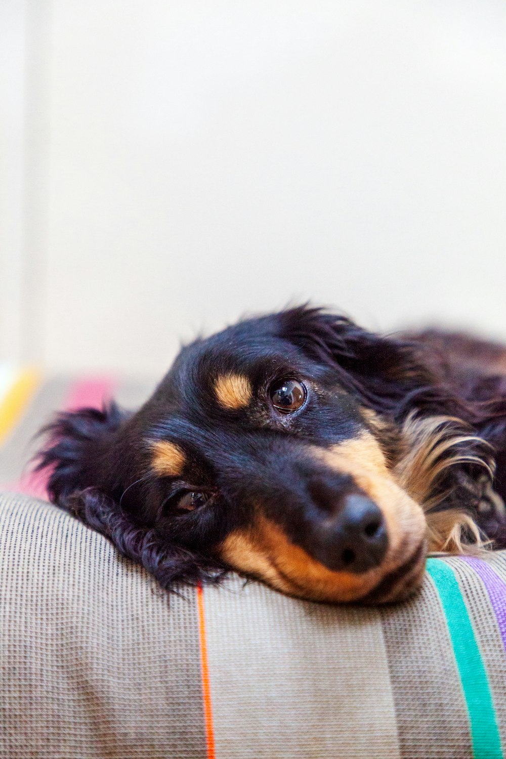
M82 408L58 414L41 430L46 446L36 456L36 471L49 473L49 498L108 537L123 556L143 565L168 590L178 592L174 583L180 580L219 581L222 566L163 542L146 524L146 490L137 490L130 508L121 505L135 465L124 449L124 425L130 416L112 403L101 411ZM132 502L138 508L132 509Z

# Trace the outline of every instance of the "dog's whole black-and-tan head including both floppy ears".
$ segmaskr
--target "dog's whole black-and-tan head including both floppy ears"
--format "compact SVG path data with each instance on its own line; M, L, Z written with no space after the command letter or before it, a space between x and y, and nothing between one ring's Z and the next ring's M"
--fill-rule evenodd
M398 345L295 309L184 348L130 417L61 417L42 466L55 501L171 580L215 562L294 596L399 600L427 525L379 407L416 386Z

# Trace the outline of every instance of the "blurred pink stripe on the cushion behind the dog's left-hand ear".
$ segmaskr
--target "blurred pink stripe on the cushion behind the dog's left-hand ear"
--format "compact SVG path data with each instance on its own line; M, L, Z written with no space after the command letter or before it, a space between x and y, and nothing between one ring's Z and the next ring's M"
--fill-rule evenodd
M94 376L77 379L71 384L60 411L77 411L79 408L102 408L111 400L117 381L111 376ZM58 409L55 409L58 411ZM17 482L3 486L16 493L47 499L47 472L27 472Z

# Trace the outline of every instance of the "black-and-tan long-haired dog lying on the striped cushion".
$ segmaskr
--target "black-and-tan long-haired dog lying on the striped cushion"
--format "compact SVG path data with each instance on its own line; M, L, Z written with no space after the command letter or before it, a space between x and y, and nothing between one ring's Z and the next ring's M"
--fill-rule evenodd
M297 307L181 350L136 413L46 427L49 495L162 586L228 568L383 603L428 552L506 544L506 348Z

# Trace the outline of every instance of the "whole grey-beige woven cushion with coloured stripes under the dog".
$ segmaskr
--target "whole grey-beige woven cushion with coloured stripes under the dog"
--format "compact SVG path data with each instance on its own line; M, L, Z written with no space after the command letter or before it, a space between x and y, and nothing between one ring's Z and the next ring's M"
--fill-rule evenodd
M0 477L21 490L49 408L112 383L13 378ZM169 599L66 512L5 493L0 553L0 757L503 756L504 552L429 559L420 594L383 609L236 575Z

